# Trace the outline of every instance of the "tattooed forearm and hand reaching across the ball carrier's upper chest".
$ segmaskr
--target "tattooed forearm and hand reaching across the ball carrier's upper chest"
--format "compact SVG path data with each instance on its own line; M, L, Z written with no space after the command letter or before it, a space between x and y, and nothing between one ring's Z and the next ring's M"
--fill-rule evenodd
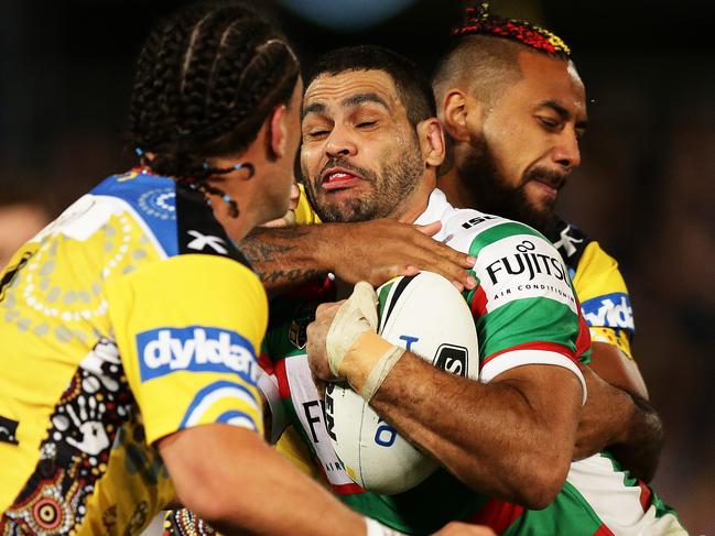
M474 288L476 281L467 272L474 259L433 240L438 230L438 222L415 227L389 219L323 223L257 229L239 245L269 294L326 272L347 283L367 281L379 286L398 275L426 270L459 289Z

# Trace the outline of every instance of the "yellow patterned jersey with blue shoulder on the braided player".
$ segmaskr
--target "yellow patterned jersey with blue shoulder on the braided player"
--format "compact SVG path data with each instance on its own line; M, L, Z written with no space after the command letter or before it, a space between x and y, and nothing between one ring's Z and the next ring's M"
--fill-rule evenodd
M137 534L173 497L154 447L262 431L267 298L196 192L112 176L0 275L0 533Z

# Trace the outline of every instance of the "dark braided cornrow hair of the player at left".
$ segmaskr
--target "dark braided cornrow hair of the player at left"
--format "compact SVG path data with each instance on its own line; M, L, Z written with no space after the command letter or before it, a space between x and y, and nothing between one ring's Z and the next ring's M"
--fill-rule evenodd
M129 141L154 173L201 190L209 156L246 149L289 102L300 67L285 36L246 6L189 6L159 23L137 61Z

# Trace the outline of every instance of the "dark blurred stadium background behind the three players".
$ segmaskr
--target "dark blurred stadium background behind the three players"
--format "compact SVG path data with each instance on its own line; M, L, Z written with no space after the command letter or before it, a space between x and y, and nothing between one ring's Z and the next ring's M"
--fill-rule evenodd
M2 0L0 194L23 185L56 214L136 163L122 140L133 58L156 18L180 3ZM462 9L458 0L256 4L306 66L328 48L369 42L427 72ZM714 3L491 6L572 47L591 127L562 212L619 260L629 284L635 353L668 431L654 485L692 534L715 534Z

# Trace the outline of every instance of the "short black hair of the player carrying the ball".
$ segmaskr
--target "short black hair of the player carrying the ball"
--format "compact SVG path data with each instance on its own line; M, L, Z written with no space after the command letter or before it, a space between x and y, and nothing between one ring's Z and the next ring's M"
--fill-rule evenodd
M311 69L305 86L318 76L350 70L382 70L390 75L413 127L436 117L437 108L427 77L414 62L382 46L346 46L324 54Z

